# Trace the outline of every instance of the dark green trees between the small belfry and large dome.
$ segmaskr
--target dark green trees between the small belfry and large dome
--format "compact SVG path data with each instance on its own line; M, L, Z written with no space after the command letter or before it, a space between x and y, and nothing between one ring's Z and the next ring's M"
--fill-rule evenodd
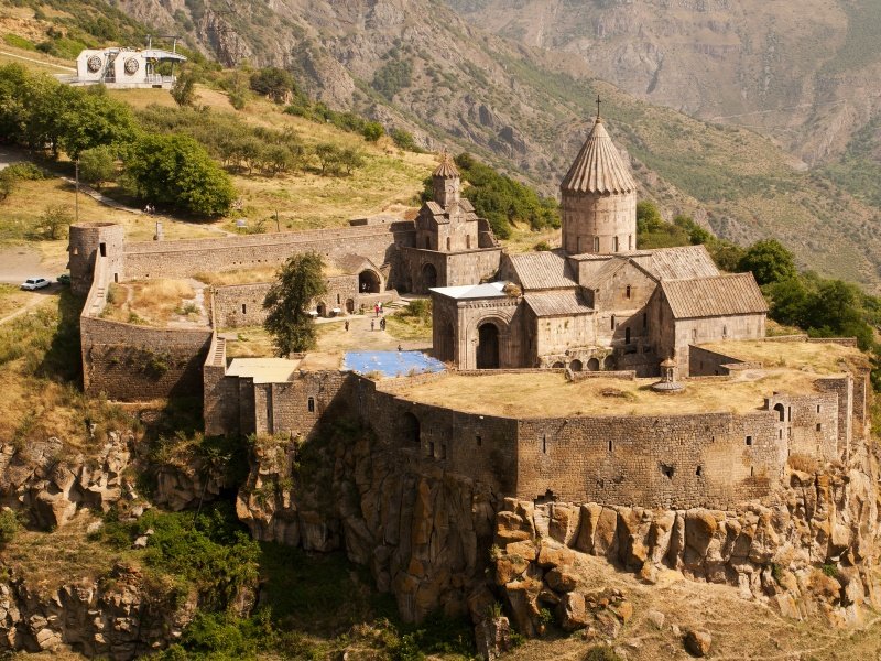
M499 174L496 170L461 153L455 159L463 180L463 196L474 205L477 215L489 220L501 239L511 237L514 225L529 224L532 229L559 227L559 205L553 197L542 197L533 188ZM431 199L432 177L425 180L422 199Z

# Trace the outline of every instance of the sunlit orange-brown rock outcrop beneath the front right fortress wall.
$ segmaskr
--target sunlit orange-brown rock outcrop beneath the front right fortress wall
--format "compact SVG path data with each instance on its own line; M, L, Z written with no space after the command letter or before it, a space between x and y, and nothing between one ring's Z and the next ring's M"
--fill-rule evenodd
M873 576L877 497L872 472L829 466L792 470L773 502L732 511L505 499L496 519L494 582L527 635L539 631L542 608L555 608L567 630L601 621L596 605L608 604L580 583L581 554L605 557L649 584L674 570L737 587L787 617L823 615L848 626L881 597ZM627 618L627 609L611 609Z

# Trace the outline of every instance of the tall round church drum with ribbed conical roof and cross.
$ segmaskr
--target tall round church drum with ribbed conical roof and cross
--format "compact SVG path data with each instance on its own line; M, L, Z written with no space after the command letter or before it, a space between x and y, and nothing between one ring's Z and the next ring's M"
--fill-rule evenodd
M610 254L637 249L637 182L599 111L559 191L566 252Z

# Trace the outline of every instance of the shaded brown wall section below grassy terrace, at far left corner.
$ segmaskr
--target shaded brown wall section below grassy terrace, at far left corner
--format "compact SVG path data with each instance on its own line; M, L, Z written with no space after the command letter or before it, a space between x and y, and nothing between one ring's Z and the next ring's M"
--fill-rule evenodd
M202 397L209 329L146 328L84 316L79 332L87 394L123 401Z

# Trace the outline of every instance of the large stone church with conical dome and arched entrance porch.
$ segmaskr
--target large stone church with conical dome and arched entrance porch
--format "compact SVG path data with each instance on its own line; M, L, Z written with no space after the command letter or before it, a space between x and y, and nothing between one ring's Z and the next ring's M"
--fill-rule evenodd
M439 170L458 193L455 167ZM704 246L637 250L637 183L599 113L559 188L561 249L499 251L496 281L429 288L437 358L651 377L672 357L687 375L690 345L764 337L752 273L719 272Z

